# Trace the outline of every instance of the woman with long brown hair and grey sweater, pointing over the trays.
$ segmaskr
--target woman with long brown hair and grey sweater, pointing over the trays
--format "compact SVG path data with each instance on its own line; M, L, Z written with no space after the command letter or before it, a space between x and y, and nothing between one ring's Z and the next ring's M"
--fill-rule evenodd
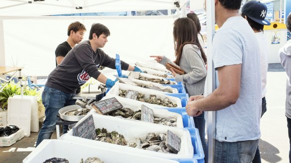
M204 93L204 85L206 80L206 55L198 40L198 31L195 23L187 18L178 18L174 22L173 36L175 48L175 65L186 73L184 75L176 74L171 70L175 81L182 81L189 96L201 95ZM150 56L155 57L156 62L166 65L166 63L174 64L165 56ZM207 163L207 144L205 141L205 119L204 112L193 117L195 127L198 128L203 151L205 154L205 163Z

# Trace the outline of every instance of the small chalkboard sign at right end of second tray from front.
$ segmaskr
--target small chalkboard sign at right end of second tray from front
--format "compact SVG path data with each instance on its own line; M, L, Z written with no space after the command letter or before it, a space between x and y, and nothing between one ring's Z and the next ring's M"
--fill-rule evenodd
M172 133L170 130L167 130L166 133L166 147L177 154L180 151L181 139Z

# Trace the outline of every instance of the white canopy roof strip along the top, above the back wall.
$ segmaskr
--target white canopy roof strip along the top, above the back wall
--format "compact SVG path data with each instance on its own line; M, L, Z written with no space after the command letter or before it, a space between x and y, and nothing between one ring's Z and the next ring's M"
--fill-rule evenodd
M40 16L64 13L176 9L185 0L1 0L0 15ZM181 5L182 6L182 5ZM76 9L80 8L82 9Z

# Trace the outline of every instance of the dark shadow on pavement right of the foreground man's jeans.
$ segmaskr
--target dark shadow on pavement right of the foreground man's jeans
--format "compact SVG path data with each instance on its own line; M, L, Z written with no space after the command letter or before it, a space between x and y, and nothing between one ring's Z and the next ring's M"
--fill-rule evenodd
M282 158L277 155L280 151L272 144L260 139L259 148L262 160L265 160L268 163L278 163L282 160Z

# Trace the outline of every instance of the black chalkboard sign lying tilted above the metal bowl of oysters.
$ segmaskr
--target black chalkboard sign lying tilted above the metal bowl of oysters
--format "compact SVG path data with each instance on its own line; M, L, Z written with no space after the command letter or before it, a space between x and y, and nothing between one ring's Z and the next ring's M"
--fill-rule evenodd
M115 97L112 97L105 100L93 102L92 107L96 110L97 113L103 115L120 109L123 106Z

